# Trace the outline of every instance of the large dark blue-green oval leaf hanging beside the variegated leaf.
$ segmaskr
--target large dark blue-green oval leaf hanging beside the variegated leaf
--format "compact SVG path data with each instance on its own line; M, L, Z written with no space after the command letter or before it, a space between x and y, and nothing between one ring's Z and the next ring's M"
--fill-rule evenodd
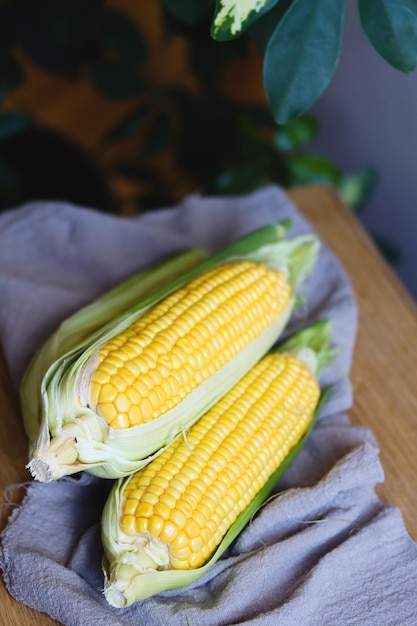
M343 36L343 0L294 0L265 51L264 86L277 122L304 113L329 85Z

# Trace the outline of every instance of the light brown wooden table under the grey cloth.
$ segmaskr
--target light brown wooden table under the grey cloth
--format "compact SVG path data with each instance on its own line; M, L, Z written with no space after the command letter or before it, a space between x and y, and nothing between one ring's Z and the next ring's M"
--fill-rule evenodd
M374 432L386 475L378 493L401 509L417 539L417 307L333 190L310 187L291 195L350 276L359 305L359 330L349 416ZM7 485L28 480L18 400L2 361L0 407L1 504ZM0 583L0 626L35 624L56 622L15 602Z

